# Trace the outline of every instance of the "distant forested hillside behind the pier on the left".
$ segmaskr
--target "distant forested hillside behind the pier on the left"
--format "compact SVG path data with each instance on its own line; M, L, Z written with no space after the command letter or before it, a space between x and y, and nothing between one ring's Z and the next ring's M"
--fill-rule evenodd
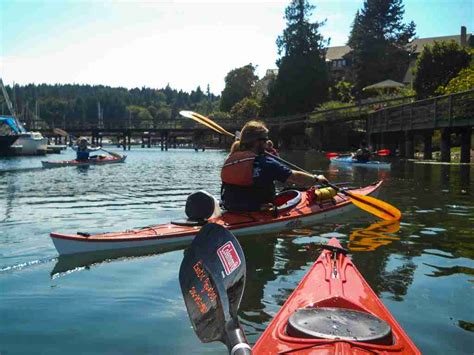
M197 87L191 93L178 91L167 85L164 89L151 88L112 88L102 85L15 85L7 87L16 111L26 112L20 119L29 121L38 103L39 117L50 127L97 125L97 102L103 110L105 126L127 126L129 115L134 127L150 127L159 120L178 118L180 110L201 111L204 107L210 112L219 102L219 97L210 90L207 94ZM205 112L205 113L206 113ZM5 113L7 113L5 111ZM141 125L141 122L147 122ZM35 123L36 128L38 122ZM40 123L41 124L41 123ZM28 126L28 125L27 125ZM44 127L46 128L46 127Z

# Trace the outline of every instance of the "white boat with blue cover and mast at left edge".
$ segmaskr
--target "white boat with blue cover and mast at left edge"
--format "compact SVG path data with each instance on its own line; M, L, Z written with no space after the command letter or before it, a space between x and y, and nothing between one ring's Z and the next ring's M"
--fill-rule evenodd
M0 78L0 87L2 89L3 97L7 103L7 107L11 116L2 116L4 124L8 125L10 129L18 135L18 138L11 146L15 148L18 155L38 155L46 154L48 150L48 139L43 137L40 132L30 132L23 127L21 122L17 119L15 109L8 97L8 92L3 85Z

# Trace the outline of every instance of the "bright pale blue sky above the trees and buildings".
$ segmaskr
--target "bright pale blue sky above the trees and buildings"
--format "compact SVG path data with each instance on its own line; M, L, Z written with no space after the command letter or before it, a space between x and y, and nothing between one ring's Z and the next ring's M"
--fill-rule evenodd
M310 0L322 34L344 45L362 0ZM190 91L224 87L232 69L276 68L289 1L0 0L5 84L79 83ZM474 31L473 0L405 0L417 36Z

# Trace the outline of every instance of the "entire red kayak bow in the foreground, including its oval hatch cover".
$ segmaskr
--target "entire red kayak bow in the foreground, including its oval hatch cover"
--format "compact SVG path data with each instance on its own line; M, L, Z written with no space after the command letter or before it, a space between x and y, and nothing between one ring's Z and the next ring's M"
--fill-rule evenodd
M421 354L345 254L329 241L253 354Z

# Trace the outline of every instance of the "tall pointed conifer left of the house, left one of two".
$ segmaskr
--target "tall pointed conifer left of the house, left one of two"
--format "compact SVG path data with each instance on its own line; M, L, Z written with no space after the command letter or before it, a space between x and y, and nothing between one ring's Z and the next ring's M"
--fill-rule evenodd
M267 115L312 111L327 98L329 41L319 33L324 22L310 22L314 9L307 0L292 0L285 10L287 27L276 41L278 75L264 103Z

